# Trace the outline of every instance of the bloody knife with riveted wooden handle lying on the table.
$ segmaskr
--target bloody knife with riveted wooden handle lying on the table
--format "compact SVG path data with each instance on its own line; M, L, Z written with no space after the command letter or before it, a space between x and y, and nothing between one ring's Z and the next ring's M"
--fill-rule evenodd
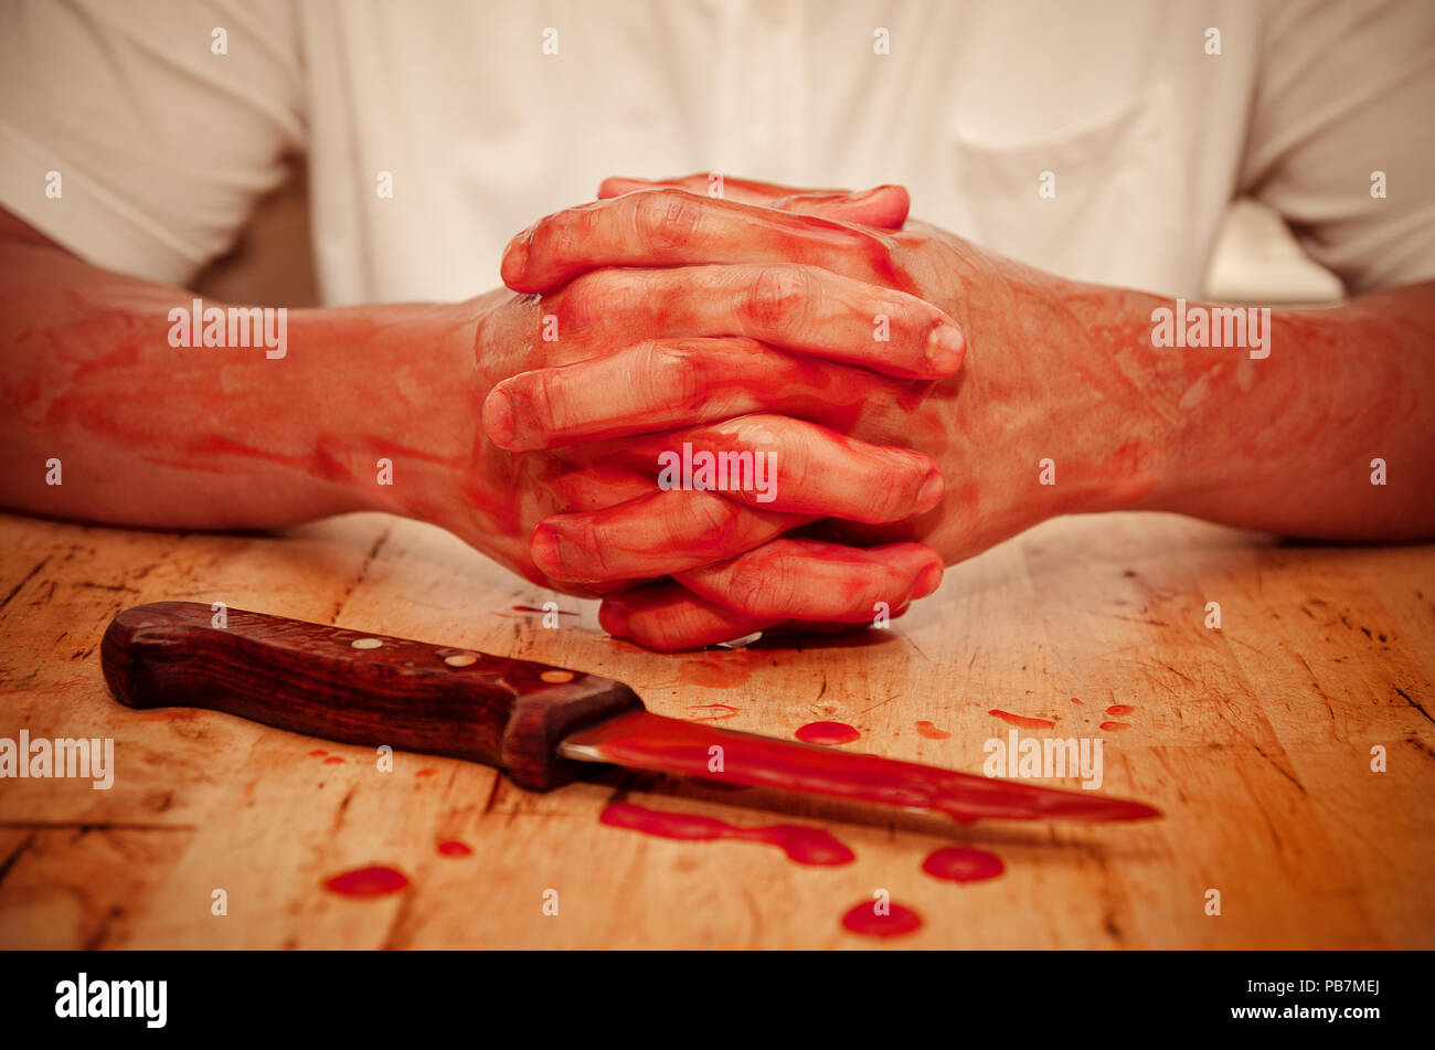
M222 625L218 625L218 623ZM651 714L613 678L263 612L161 601L100 647L129 707L207 707L352 744L495 766L551 790L587 763L827 795L961 820L1134 820L1139 802L1012 783Z

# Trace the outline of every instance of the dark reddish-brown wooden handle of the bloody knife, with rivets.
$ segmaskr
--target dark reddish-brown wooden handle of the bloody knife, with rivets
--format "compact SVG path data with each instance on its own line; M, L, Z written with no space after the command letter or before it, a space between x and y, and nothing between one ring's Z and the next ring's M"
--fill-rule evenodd
M208 707L353 744L448 755L548 790L584 772L558 742L643 701L621 681L527 660L161 601L125 610L102 644L129 707Z

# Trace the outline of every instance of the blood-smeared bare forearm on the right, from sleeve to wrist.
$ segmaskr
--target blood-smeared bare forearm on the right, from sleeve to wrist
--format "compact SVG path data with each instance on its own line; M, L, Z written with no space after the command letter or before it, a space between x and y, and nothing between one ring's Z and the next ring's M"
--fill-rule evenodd
M1251 331L1241 347L1154 346L1157 311L1175 306L1108 290L1069 300L1095 337L1075 353L1108 361L1109 422L1164 446L1149 449L1159 468L1139 505L1325 539L1435 535L1435 284L1270 310L1263 347Z

